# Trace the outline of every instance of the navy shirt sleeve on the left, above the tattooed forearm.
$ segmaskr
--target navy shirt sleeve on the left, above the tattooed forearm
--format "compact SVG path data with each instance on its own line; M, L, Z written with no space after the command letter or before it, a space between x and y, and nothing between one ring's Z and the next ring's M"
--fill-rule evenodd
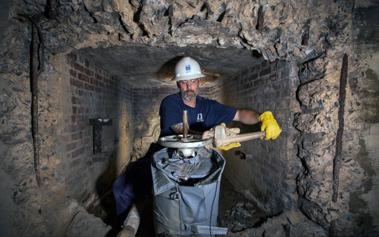
M159 108L159 115L161 117L161 137L174 135L174 132L170 129L175 124L182 123L182 109L177 101L170 97L166 97L162 100Z

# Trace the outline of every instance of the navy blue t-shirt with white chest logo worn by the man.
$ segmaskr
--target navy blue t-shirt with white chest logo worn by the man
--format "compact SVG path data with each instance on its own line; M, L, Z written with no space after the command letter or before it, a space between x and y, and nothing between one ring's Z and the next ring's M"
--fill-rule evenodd
M198 132L205 132L221 123L228 125L237 111L201 96L196 96L196 106L193 108L184 104L179 93L169 95L162 100L159 108L161 137L175 135L170 127L183 122L183 110L188 110L189 129Z

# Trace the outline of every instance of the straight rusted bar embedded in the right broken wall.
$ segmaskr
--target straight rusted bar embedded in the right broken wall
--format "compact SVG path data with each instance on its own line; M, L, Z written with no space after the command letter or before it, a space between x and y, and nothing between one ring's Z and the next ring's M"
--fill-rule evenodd
M346 99L346 85L347 85L347 73L348 73L348 56L345 53L342 59L341 77L340 77L340 109L338 110L338 130L336 136L336 154L334 157L333 165L333 202L337 201L338 185L340 181L340 165L342 154L342 135L344 133L344 113L345 113L345 99Z

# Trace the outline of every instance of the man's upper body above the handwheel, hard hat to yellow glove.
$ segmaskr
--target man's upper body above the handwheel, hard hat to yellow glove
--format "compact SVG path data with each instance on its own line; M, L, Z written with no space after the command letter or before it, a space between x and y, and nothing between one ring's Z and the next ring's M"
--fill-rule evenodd
M175 77L179 93L163 99L159 110L161 116L161 136L182 134L182 111L188 111L188 133L202 134L215 125L238 121L252 125L261 123L261 131L266 131L266 140L275 139L281 130L272 113L259 113L251 109L235 109L219 102L198 96L201 84L199 64L191 57L183 57L175 66Z

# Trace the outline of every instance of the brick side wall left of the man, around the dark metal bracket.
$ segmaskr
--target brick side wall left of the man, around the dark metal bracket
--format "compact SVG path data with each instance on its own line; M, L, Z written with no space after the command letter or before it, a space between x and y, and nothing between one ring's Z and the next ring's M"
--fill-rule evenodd
M73 52L67 55L67 64L71 103L65 113L66 186L69 196L85 201L107 191L130 159L132 88ZM112 119L112 126L103 127L103 155L93 155L90 118Z

